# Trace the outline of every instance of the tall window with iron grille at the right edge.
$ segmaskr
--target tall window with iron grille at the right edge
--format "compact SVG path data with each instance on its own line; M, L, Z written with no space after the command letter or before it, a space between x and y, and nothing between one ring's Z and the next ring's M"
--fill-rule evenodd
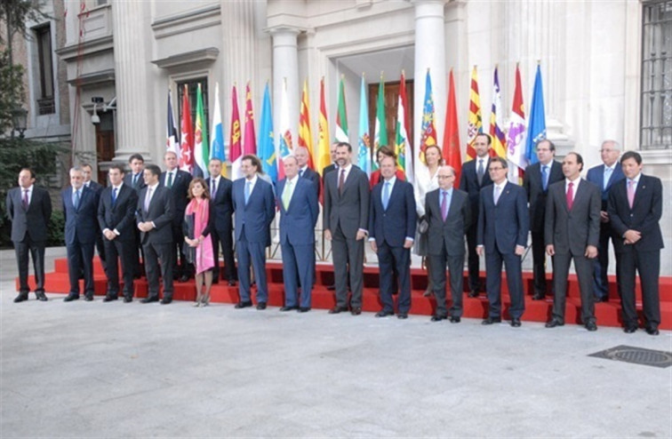
M645 2L642 23L642 149L672 148L672 0Z

